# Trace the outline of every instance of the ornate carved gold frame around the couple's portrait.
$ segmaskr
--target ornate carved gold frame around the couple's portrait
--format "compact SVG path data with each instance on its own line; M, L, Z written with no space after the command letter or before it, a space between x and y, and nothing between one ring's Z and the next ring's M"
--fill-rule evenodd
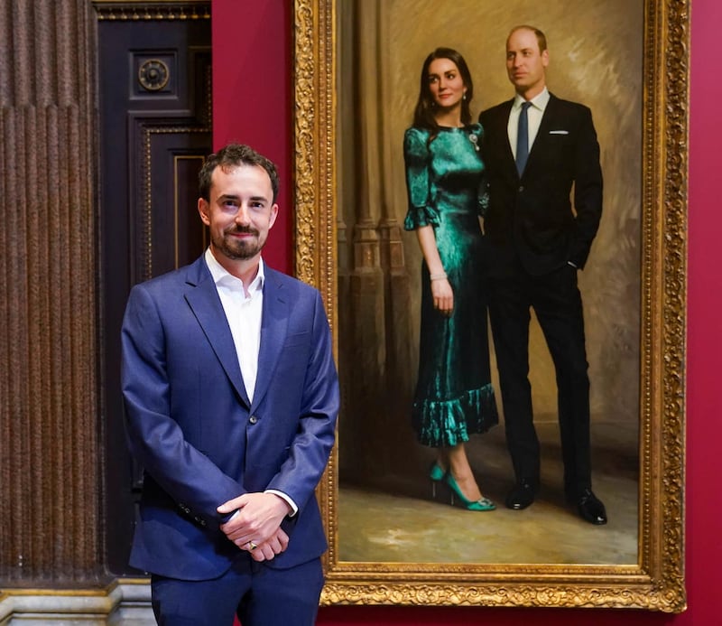
M343 157L338 137L338 23L354 4L295 0L294 5L296 274L323 294L337 354L343 350L338 342L339 254L345 254L338 245L339 233L343 234L338 226L337 184ZM597 4L588 3L590 7ZM639 305L635 309L639 332L635 559L592 564L415 562L412 556L403 561L344 560L338 481L344 446L337 445L319 486L329 536L322 603L684 610L690 0L639 0L639 5L643 60L639 76ZM483 24L478 28L483 30ZM477 33L471 27L469 32ZM434 45L430 43L430 49ZM489 63L503 67L503 57ZM415 76L419 68L410 71ZM388 107L393 109L393 102ZM400 138L391 141L400 143ZM339 416L341 439L345 409ZM603 533L600 541L605 540Z

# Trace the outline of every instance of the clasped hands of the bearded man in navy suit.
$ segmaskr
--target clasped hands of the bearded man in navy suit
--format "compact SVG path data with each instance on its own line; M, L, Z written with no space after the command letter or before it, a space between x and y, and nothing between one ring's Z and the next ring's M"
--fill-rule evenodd
M288 547L281 522L290 512L288 503L273 493L244 493L218 507L218 513L236 514L220 529L255 561L272 559Z

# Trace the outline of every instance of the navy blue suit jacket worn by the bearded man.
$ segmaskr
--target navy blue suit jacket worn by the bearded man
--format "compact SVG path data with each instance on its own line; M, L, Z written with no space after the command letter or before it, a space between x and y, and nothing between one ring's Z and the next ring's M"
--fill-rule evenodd
M286 568L327 548L314 490L328 462L338 378L319 292L264 268L258 378L249 402L216 285L203 257L135 285L122 329L131 452L144 481L130 563L207 580L248 558L216 508L274 489L298 505L282 528Z

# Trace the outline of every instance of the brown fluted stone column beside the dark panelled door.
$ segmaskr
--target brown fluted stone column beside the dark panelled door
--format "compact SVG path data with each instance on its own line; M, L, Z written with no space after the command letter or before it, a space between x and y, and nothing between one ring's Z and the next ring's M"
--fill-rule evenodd
M95 22L0 0L0 580L101 582Z

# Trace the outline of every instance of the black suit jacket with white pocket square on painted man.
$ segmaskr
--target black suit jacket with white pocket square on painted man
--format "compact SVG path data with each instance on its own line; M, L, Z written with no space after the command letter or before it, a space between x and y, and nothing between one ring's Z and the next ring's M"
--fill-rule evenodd
M490 195L484 227L495 250L492 272L511 263L514 252L534 276L568 261L582 268L602 214L602 172L591 111L551 95L520 178L507 133L513 103L503 102L479 116Z

